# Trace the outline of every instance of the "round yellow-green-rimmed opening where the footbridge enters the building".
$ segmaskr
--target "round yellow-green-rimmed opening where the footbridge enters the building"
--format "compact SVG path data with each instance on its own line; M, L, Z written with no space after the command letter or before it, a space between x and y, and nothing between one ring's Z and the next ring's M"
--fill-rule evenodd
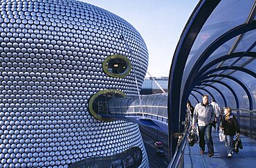
M113 121L112 118L102 118L108 114L107 101L111 98L126 97L125 93L116 89L106 89L95 93L89 101L89 111L93 117L103 121Z

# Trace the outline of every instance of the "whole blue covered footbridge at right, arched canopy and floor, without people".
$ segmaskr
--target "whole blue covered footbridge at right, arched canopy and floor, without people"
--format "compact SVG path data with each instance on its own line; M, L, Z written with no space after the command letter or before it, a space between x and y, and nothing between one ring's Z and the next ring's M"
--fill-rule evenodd
M185 156L184 164L188 167L255 165L255 159L251 159L255 158L256 152L253 140L256 136L255 4L254 0L199 1L192 12L170 69L170 167L183 163L182 156ZM195 105L201 102L205 94L220 106L232 108L241 132L248 138L242 137L248 147L232 161L227 159L225 146L219 142L217 133L213 133L216 145L213 158L201 156L199 149L185 145L187 134L182 123L185 120L186 102L190 100ZM183 140L178 144L175 135L183 132Z

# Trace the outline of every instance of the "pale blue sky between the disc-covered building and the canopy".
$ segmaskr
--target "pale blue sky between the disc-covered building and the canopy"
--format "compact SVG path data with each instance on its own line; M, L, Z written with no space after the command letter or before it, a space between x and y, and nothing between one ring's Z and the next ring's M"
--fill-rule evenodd
M82 0L127 20L149 51L148 71L168 77L181 32L199 0ZM146 75L149 77L149 75Z

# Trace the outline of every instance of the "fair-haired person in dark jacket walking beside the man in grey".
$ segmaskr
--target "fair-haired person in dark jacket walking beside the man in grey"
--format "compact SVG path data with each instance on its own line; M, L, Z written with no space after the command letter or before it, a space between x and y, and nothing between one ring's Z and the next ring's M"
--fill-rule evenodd
M237 136L239 137L240 134L237 118L233 113L231 113L230 107L224 108L224 113L221 117L221 129L224 130L224 134L226 135L227 155L230 158L232 157L232 143L234 136L237 133Z

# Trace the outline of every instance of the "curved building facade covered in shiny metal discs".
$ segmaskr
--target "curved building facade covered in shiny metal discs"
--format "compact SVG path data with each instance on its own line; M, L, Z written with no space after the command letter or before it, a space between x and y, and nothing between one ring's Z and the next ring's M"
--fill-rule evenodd
M72 0L1 0L0 24L0 167L68 167L133 147L148 167L137 124L89 111L100 91L138 95L148 53L131 24ZM105 167L129 164L120 158Z

